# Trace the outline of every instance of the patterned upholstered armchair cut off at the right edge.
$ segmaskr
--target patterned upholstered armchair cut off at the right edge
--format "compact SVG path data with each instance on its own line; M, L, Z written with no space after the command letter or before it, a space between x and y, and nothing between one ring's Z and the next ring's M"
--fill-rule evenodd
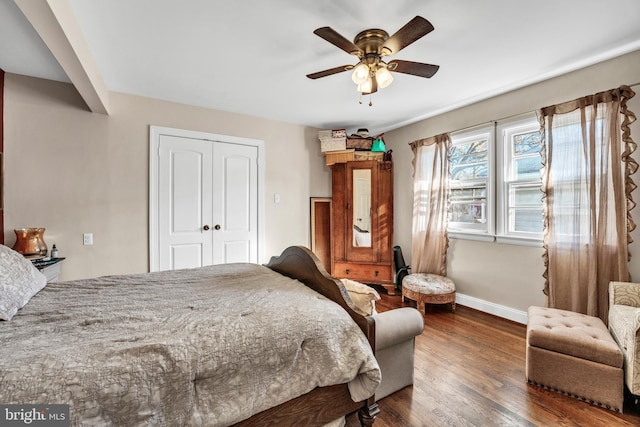
M624 381L640 396L640 283L609 283L609 331L624 354Z

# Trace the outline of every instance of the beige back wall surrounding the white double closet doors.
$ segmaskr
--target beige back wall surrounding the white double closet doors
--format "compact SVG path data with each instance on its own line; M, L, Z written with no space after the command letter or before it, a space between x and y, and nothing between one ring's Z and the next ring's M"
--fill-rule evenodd
M309 197L331 193L316 129L121 93L105 116L68 84L5 83L5 242L14 228L45 227L67 258L61 279L148 271L149 125L265 141L261 262L309 245ZM82 245L87 232L93 246Z

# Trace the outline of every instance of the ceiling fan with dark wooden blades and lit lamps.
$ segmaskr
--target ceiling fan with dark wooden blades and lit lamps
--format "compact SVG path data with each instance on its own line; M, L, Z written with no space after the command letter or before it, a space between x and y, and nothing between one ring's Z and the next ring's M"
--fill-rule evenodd
M433 31L433 25L421 16L413 18L391 37L384 30L371 28L358 33L353 39L353 43L331 27L318 28L313 32L314 34L345 52L357 56L359 62L356 65L342 65L307 74L307 77L319 79L343 71L353 70L351 79L358 85L358 92L361 94L375 93L378 88L382 89L389 86L393 81L390 71L430 78L440 68L438 65L403 61L401 59L385 62L382 58L395 55L431 31Z

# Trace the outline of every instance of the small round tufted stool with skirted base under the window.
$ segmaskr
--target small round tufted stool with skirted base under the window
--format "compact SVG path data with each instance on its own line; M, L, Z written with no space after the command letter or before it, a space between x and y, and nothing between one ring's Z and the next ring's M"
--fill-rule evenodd
M456 311L456 285L453 280L437 274L413 273L402 280L402 301L415 301L418 310L426 314L425 304L451 304Z

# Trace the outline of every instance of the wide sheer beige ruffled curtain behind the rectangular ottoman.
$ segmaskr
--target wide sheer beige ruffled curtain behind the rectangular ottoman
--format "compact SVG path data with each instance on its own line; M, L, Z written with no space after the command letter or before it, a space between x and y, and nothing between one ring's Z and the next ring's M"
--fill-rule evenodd
M622 86L543 108L544 261L549 307L607 321L608 285L628 281L631 158L636 144Z

